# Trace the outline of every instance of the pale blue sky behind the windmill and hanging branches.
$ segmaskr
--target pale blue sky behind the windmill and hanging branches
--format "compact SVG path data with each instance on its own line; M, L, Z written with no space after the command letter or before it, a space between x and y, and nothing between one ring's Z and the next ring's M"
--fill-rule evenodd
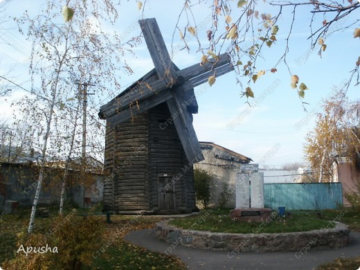
M17 0L6 10L6 15L19 16L19 6L23 9L33 10L33 1ZM16 3L15 3L16 2ZM21 5L19 4L21 2ZM40 2L40 1L39 1ZM60 1L62 3L65 1ZM71 1L70 1L71 2ZM171 3L171 4L170 4ZM139 12L134 1L122 1L119 8L119 21L115 28L124 38L130 38L140 33L137 21L144 17L155 17L161 33L171 49L172 34L177 22L179 10L183 1L159 1L152 0L145 6L145 12ZM273 12L273 8L266 3L260 5L260 13ZM236 10L235 10L236 11ZM271 48L264 48L262 57L264 60L257 64L258 69L270 69L278 61L285 50L285 38L291 19L291 8L282 11L282 18L278 22L278 42ZM359 11L346 21L341 21L338 26L345 25L359 17ZM195 8L195 15L199 22L206 21L210 16L210 9ZM307 132L314 128L316 112L320 111L319 102L332 93L334 88L341 87L341 84L349 78L349 71L354 68L354 63L359 57L360 39L353 38L354 28L339 31L331 35L325 41L327 49L322 57L318 56L318 48L310 49L309 36L309 8L299 8L296 16L293 34L290 39L290 51L287 55L287 63L291 71L297 74L300 82L305 82L309 88L306 91L305 102L308 102L307 112L303 110L301 102L295 89L290 87L290 75L287 67L282 64L277 67L277 73L267 73L255 84L251 85L255 98L251 100L252 107L249 107L246 98L240 98L239 84L236 84L235 73L228 73L217 81L213 87L207 84L195 89L199 114L194 116L194 127L199 141L211 141L227 147L235 152L251 157L253 161L264 165L282 165L303 161L303 143ZM233 15L235 17L235 15ZM322 19L322 18L321 18ZM8 30L1 28L0 35L8 35L10 45L0 39L0 73L6 75L6 71L18 84L30 89L30 80L26 63L29 56L30 46L24 42L24 37L17 33L16 26L10 21L6 25ZM113 30L114 26L105 26L107 30ZM174 35L174 48L179 45L179 34ZM11 39L10 39L11 38ZM195 42L190 41L195 45ZM14 46L17 46L14 48ZM194 46L195 48L195 46ZM153 68L152 60L147 52L146 44L134 48L135 55L128 55L127 62L134 70L134 74L119 74L124 89ZM173 62L180 69L199 62L201 53L196 50L188 53L186 50L175 50ZM247 78L242 83L246 87ZM10 117L9 105L12 100L24 95L24 91L13 91L12 96L1 98L0 109L4 117ZM96 100L94 104L100 106L114 98L115 93ZM348 97L352 100L359 99L359 87L352 84L348 90ZM100 104L100 105L99 105ZM98 109L96 107L95 109ZM6 116L5 116L6 114Z

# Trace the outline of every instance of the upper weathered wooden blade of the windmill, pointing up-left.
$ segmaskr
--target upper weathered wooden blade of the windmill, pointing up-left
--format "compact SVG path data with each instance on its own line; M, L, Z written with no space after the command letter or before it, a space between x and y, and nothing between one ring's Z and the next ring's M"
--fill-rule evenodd
M160 80L164 80L166 85L171 88L177 82L177 72L170 59L156 19L141 19L138 23L143 31L145 42L152 57L152 62L154 62L157 75Z

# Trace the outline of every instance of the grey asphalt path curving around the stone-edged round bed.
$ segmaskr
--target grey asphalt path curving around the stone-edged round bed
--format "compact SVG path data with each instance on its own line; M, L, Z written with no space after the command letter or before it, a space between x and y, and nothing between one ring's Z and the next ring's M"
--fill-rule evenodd
M312 249L296 258L294 251L267 253L236 253L228 258L227 251L192 249L186 246L172 246L157 240L152 230L133 231L125 240L143 246L151 251L163 253L168 249L183 262L188 269L314 269L320 264L331 262L335 258L352 258L360 255L360 233L350 233L351 242L341 249ZM299 254L297 253L297 257ZM360 266L359 266L360 267Z

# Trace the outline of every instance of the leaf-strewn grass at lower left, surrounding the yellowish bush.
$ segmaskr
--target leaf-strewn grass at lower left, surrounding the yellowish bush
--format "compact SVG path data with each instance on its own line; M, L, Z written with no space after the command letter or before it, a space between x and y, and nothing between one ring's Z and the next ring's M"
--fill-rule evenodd
M100 211L92 209L87 212L99 213ZM67 210L64 216L68 213L70 210ZM84 213L84 211L78 210L78 213ZM50 217L37 217L34 233L46 233L56 216L57 209L53 208ZM16 251L20 246L17 234L27 231L29 217L30 209L23 209L16 214L4 215L3 219L0 219L0 266L16 258ZM82 217L78 218L82 219ZM94 255L96 258L91 258L93 261L90 268L82 267L82 269L186 269L186 265L179 258L147 251L123 240L123 237L130 231L152 228L156 222L160 222L162 219L114 215L111 216L111 224L106 224L105 216L93 218L101 219L104 222L105 230L102 234L102 243L100 243L102 250ZM87 219L84 219L84 222L87 222ZM48 253L44 255L46 254ZM57 267L53 266L52 269L57 269Z

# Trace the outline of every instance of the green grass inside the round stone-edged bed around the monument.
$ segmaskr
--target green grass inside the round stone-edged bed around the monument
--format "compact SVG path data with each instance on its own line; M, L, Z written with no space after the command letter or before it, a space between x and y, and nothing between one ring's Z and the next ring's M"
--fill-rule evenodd
M170 221L170 225L214 233L292 233L334 226L334 224L329 226L328 220L319 219L313 213L296 213L290 217L276 215L270 222L237 222L231 219L230 210L210 211L202 211L200 215L173 219Z

